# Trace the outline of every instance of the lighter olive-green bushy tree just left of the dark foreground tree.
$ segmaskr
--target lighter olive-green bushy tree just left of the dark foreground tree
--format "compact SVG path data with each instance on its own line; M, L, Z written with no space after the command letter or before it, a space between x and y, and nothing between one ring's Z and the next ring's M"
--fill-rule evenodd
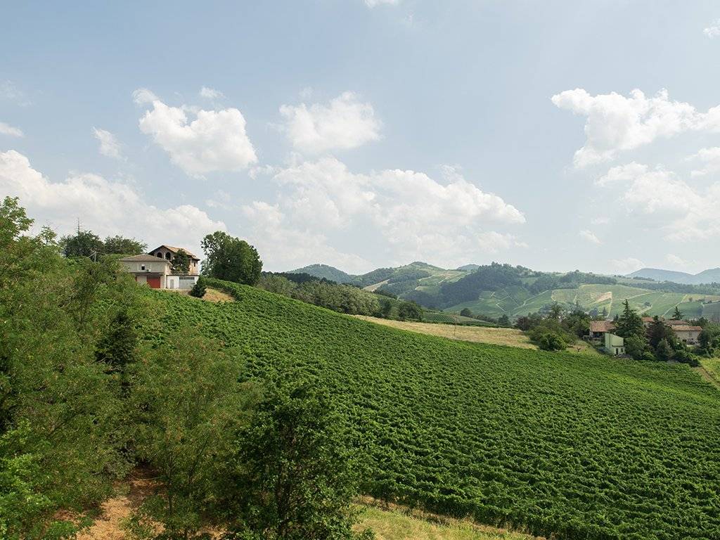
M138 457L157 471L163 492L145 499L130 518L140 538L197 538L206 521L224 514L217 495L235 453L235 435L248 423L256 392L238 382L236 351L189 330L169 336L135 364L132 405ZM158 534L154 523L162 523Z

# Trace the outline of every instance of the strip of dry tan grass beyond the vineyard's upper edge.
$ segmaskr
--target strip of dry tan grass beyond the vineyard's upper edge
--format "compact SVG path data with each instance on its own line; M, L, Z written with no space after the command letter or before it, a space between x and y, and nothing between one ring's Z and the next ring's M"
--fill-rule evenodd
M488 328L485 326L468 326L468 325L446 325L435 323L411 323L407 320L390 320L379 319L375 317L366 317L357 315L362 320L371 323L391 326L392 328L400 328L400 330L410 330L421 334L430 334L431 336L440 336L441 338L456 339L459 341L473 341L475 343L492 343L493 345L507 345L510 347L521 348L537 348L527 336L516 328Z

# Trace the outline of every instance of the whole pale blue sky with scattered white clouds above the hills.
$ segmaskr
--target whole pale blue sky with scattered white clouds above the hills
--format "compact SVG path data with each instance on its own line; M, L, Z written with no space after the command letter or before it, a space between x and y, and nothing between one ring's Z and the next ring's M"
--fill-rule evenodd
M714 1L12 2L0 196L264 268L720 266Z

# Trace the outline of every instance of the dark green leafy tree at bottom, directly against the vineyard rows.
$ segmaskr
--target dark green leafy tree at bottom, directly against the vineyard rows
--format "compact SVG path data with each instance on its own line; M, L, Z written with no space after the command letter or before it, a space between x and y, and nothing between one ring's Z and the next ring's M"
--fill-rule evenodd
M228 491L230 531L241 538L356 537L363 467L330 397L310 382L271 383L238 432ZM242 535L242 536L241 536Z

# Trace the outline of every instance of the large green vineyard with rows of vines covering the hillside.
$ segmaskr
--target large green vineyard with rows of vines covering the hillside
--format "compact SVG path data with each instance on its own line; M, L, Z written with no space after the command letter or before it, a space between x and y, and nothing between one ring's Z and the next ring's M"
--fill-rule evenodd
M213 282L217 286L217 282ZM557 539L720 538L720 393L685 365L450 341L228 286L148 291L257 375L314 374L369 459L367 495Z

